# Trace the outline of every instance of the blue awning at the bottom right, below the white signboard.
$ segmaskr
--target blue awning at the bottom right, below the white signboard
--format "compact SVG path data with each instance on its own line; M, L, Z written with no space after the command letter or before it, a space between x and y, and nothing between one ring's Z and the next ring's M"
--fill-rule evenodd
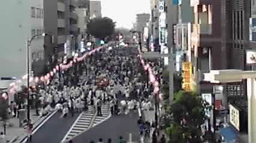
M238 132L231 127L221 128L221 135L224 136L226 143L235 143L239 138Z

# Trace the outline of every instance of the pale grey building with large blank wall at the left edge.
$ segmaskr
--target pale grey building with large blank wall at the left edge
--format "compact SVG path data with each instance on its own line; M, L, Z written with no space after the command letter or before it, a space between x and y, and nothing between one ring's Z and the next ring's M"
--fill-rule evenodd
M31 3L30 1L2 1L1 10L1 52L0 52L0 77L22 77L27 70L27 41L31 38L31 31L42 24L35 23L31 28ZM41 2L38 4L40 5ZM41 7L37 7L41 8ZM14 11L15 10L15 11ZM17 13L19 11L19 13ZM39 44L35 39L32 46ZM39 40L40 41L40 40ZM43 46L43 45L41 45ZM30 50L32 51L32 50ZM30 56L30 61L32 57Z

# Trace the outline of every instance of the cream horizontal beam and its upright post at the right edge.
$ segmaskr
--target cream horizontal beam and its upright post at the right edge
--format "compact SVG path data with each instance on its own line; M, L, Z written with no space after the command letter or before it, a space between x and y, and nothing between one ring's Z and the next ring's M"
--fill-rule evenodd
M204 73L204 80L211 83L241 82L247 79L248 98L248 138L249 143L256 142L256 71L211 70Z

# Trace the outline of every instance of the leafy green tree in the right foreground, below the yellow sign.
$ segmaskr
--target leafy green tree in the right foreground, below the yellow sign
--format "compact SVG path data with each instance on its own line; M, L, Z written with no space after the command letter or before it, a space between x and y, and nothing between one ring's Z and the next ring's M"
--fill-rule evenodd
M174 95L174 102L168 105L165 116L165 133L171 143L201 142L200 125L204 123L206 106L194 92L179 91Z

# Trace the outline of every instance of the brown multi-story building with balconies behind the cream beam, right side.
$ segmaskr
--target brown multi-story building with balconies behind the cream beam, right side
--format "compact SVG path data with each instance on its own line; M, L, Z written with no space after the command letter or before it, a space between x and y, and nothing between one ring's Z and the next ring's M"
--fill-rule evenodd
M192 33L188 47L188 61L192 62L194 90L212 93L213 85L203 81L202 75L210 70L246 70L245 51L249 47L249 1L194 1L191 0ZM218 107L227 108L227 101L239 98L244 104L245 81L222 84L216 94ZM219 92L219 91L218 91Z

